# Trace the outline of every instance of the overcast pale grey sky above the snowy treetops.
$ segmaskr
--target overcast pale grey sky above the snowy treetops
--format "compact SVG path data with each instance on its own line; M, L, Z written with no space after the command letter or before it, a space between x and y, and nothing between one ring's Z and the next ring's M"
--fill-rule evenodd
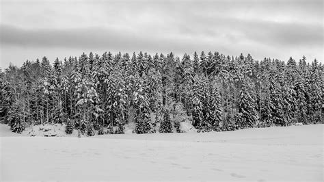
M323 62L323 1L1 1L1 68L105 51Z

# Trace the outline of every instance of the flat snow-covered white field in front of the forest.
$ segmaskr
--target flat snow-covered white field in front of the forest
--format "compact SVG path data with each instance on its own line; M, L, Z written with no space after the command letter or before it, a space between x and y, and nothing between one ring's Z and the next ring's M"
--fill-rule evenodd
M0 126L1 181L323 181L324 125L92 138L8 129Z

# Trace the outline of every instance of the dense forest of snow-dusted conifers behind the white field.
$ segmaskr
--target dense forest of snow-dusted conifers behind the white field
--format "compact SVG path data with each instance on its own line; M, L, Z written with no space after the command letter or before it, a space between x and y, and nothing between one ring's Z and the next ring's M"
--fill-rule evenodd
M134 133L178 131L185 120L199 132L308 125L323 123L323 78L323 65L306 57L105 52L53 64L42 57L1 70L0 119L16 133L60 123L86 135L124 133L129 122Z

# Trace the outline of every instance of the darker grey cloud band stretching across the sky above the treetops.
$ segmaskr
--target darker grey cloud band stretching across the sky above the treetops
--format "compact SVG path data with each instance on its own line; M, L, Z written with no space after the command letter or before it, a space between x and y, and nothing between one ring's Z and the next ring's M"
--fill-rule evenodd
M199 17L190 17L193 23ZM165 37L165 34L154 32L132 32L112 27L88 27L79 29L21 29L1 25L1 44L31 47L66 47L93 49L155 49L175 51L202 49L213 46L213 43L200 40L206 36L211 40L224 36L230 43L236 41L254 41L273 46L321 46L323 27L321 25L301 25L297 23L272 23L265 21L239 20L235 18L207 18L196 26L179 24L179 36ZM154 31L154 29L152 29ZM183 38L180 35L189 35ZM190 42L193 40L193 42Z

